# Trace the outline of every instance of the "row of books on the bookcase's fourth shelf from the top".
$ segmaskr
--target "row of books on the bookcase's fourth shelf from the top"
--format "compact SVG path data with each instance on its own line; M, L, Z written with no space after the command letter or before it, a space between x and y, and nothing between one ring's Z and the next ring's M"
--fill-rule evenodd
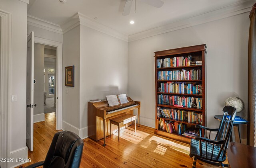
M171 96L171 95L158 95L158 104L162 105L174 105L177 107L194 107L194 97L185 96Z

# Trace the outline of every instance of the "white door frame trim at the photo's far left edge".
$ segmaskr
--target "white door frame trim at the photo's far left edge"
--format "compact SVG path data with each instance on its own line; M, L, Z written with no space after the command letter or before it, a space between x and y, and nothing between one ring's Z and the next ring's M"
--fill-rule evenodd
M1 52L0 52L0 158L10 158L10 87L11 86L11 38L12 14L0 10ZM1 163L9 167L10 163Z

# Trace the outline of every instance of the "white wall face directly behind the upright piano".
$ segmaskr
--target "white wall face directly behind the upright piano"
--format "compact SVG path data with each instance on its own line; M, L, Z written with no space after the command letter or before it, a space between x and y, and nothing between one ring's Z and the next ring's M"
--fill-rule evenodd
M84 128L90 100L127 94L128 43L84 25L80 42L80 128Z

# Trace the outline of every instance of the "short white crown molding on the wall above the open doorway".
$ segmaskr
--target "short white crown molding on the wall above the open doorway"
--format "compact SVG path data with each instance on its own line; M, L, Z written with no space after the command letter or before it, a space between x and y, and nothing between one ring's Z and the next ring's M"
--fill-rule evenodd
M60 25L28 15L28 25L62 34Z

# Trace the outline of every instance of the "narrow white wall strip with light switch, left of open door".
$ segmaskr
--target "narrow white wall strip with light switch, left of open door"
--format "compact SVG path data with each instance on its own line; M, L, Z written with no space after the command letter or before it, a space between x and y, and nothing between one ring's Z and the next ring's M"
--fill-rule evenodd
M11 94L17 102L10 107L10 153L18 158L27 158L26 148L26 41L27 4L19 0L0 0L0 9L12 14ZM8 100L9 101L9 100ZM21 152L20 152L21 151ZM18 163L11 163L10 166Z

